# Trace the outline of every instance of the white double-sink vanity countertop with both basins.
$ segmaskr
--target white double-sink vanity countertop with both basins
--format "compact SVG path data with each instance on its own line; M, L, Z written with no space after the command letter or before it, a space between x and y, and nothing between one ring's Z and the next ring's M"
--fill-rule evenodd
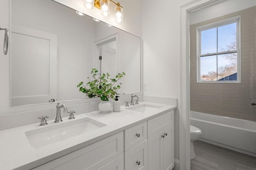
M64 117L63 122L48 121L3 130L0 133L0 169L31 169L60 156L110 137L130 127L175 109L176 106L141 102L121 106L119 112L94 111Z

